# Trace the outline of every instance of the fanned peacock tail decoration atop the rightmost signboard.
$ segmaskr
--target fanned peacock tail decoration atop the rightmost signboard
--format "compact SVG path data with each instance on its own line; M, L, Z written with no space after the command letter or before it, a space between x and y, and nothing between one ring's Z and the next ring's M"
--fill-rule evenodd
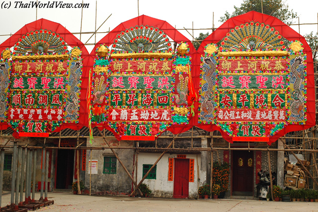
M256 50L285 48L283 37L274 27L264 23L247 22L236 26L221 41L220 50Z

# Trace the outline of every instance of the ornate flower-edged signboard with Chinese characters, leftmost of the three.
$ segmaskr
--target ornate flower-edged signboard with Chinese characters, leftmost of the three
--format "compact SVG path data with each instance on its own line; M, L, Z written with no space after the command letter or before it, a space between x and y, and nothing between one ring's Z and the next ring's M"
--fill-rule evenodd
M62 123L77 123L80 49L69 53L59 34L42 29L23 35L13 49L10 63L0 64L8 85L7 111L0 117L20 136L48 136Z

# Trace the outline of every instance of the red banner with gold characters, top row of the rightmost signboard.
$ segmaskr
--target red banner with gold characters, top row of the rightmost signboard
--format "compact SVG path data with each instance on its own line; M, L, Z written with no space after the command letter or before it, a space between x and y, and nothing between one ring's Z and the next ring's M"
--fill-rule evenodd
M228 71L248 71L272 73L277 71L278 73L286 71L288 68L286 60L219 60L219 72Z

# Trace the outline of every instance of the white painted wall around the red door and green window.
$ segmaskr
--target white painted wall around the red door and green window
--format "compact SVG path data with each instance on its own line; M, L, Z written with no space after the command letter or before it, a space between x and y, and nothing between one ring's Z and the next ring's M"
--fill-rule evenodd
M138 174L137 178L140 182L143 178L143 164L154 164L160 153L139 153L138 154ZM145 179L143 183L149 185L149 188L153 191L152 196L158 197L172 197L173 195L173 181L168 181L168 160L169 158L176 158L177 154L165 154L157 163L157 177L156 180ZM189 198L195 198L198 193L198 168L201 169L201 156L188 154L188 159L194 159L194 182L189 182ZM173 164L174 165L174 164ZM174 170L173 170L174 174ZM200 174L200 171L199 171ZM199 176L200 178L200 176ZM174 180L174 176L173 176Z

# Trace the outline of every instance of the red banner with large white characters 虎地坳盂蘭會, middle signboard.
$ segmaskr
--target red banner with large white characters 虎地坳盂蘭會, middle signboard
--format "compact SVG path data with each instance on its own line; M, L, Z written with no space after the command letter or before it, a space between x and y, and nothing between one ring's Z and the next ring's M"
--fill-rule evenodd
M112 109L108 121L170 121L167 109Z

